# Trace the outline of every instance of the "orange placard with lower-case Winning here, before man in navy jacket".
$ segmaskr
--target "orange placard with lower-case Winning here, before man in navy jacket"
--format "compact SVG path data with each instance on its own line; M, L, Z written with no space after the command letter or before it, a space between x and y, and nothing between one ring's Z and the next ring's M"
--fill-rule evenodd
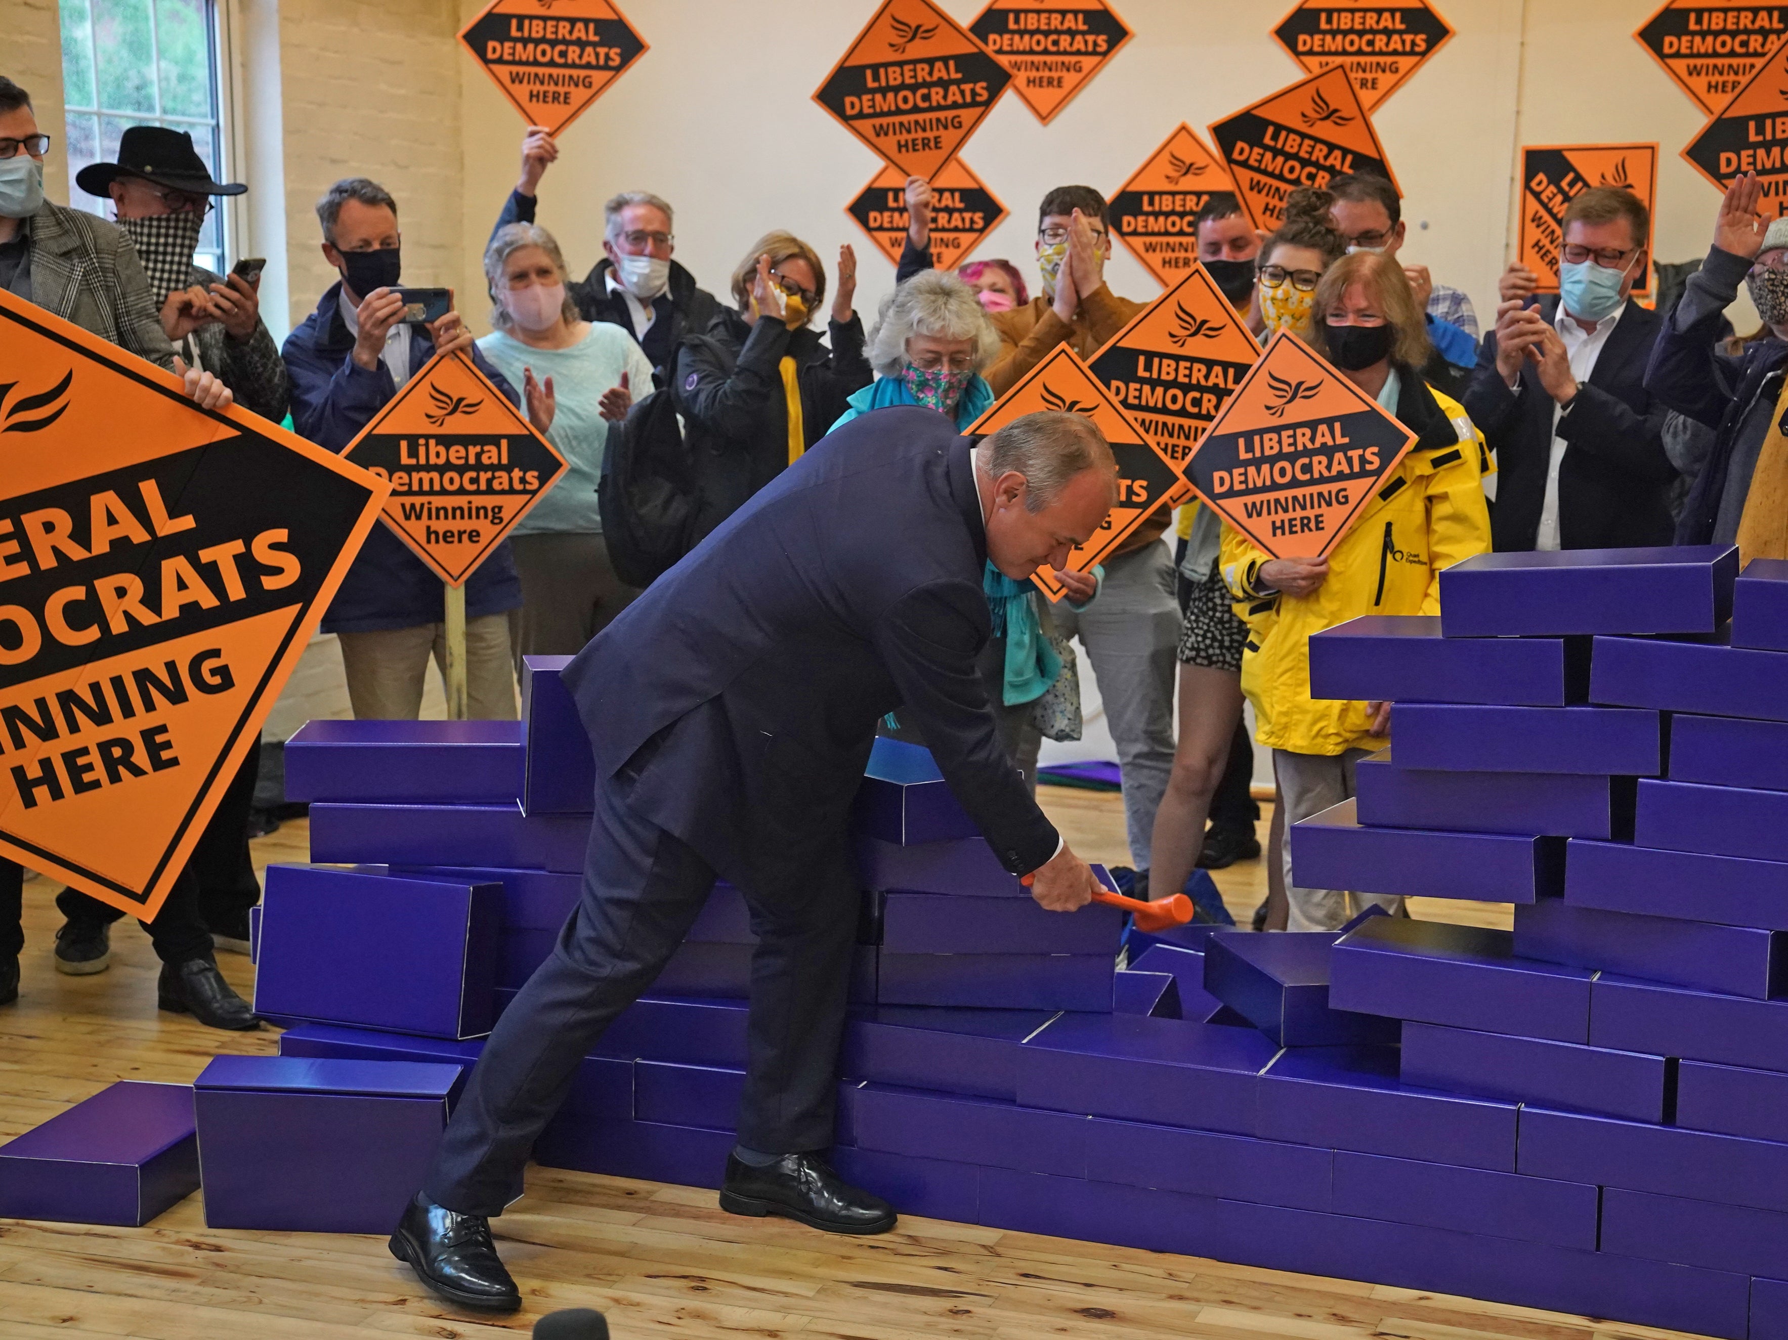
M342 454L390 481L384 523L449 586L565 473L465 352L434 357Z

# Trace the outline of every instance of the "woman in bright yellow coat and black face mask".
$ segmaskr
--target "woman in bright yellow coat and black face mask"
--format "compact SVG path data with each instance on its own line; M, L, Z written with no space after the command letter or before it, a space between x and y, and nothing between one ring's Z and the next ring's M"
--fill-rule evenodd
M1354 766L1389 743L1391 704L1311 699L1311 634L1361 615L1436 615L1441 570L1489 550L1489 454L1464 409L1416 372L1430 348L1404 268L1371 252L1337 261L1316 288L1311 343L1416 441L1327 559L1273 559L1223 534L1223 579L1250 631L1243 688L1273 749L1287 824L1352 797ZM1332 931L1366 902L1402 904L1361 895L1350 908L1345 890L1300 888L1289 859L1287 842L1289 931Z

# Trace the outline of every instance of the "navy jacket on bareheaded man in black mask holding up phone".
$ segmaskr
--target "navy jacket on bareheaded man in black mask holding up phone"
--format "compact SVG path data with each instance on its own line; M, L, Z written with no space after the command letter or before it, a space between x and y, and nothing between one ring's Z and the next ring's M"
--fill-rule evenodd
M383 363L377 372L367 372L354 363L354 336L349 334L336 306L340 293L342 282L336 281L316 304L316 311L286 336L281 350L291 377L291 423L300 438L309 438L331 452L347 450L372 416L397 395L397 384ZM409 336L411 375L431 357L434 341L418 325ZM472 361L511 404L520 404L515 388L477 348L472 350ZM467 618L501 615L520 604L522 581L515 574L510 541L504 540L467 581L465 615ZM342 579L334 600L329 602L329 613L324 615L322 629L383 632L440 624L445 616L447 597L442 579L381 523L372 527L365 547Z

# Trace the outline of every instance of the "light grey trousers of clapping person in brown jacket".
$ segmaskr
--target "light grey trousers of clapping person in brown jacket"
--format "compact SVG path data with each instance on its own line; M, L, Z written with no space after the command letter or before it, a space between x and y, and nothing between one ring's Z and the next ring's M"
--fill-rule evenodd
M1062 600L1050 607L1050 618L1069 638L1080 638L1092 661L1123 772L1130 859L1137 870L1148 870L1155 811L1173 774L1175 649L1180 641L1173 554L1157 541L1105 559L1098 599L1078 613Z

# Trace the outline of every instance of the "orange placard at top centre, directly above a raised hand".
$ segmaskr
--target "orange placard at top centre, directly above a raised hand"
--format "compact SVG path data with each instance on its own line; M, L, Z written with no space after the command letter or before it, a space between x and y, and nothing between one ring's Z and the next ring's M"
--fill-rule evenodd
M814 102L901 173L933 177L1012 75L932 0L885 0Z

